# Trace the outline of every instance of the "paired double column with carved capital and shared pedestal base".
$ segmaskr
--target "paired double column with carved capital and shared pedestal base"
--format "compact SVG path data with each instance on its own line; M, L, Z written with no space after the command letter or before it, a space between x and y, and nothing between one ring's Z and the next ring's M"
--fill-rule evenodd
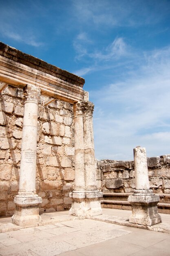
M96 185L93 139L93 103L75 103L75 190L70 193L73 203L69 214L97 216L102 214L102 192Z

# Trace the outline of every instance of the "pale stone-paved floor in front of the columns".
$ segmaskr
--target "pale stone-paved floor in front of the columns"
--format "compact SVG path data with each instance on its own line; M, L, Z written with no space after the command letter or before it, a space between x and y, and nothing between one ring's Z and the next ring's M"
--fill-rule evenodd
M170 234L105 222L114 217L124 221L130 211L103 209L103 213L102 221L77 219L67 212L46 213L44 225L0 233L0 255L170 256ZM161 217L170 226L170 215ZM8 225L7 219L1 218L1 225ZM50 220L53 223L45 223Z

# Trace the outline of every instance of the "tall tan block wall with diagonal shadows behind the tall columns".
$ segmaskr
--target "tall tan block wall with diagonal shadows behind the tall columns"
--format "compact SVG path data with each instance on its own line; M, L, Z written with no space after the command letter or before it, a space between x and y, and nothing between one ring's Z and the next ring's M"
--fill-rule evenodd
M36 190L40 212L70 209L74 181L73 106L40 97L38 117ZM0 216L13 214L18 194L23 89L8 86L0 96Z

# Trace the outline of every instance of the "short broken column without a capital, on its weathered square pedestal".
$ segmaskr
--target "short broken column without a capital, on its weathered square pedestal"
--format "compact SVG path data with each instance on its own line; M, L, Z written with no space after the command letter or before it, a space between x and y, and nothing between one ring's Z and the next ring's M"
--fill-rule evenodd
M128 197L132 205L130 223L152 226L161 222L157 203L160 198L155 195L149 186L146 149L140 146L134 148L135 190Z

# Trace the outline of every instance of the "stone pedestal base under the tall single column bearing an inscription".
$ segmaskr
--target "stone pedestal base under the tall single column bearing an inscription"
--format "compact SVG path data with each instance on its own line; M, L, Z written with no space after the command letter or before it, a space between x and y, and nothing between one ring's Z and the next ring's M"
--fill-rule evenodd
M16 204L15 213L12 216L12 223L18 226L36 225L42 221L39 215L39 204L42 198L38 195L17 195L14 198Z

